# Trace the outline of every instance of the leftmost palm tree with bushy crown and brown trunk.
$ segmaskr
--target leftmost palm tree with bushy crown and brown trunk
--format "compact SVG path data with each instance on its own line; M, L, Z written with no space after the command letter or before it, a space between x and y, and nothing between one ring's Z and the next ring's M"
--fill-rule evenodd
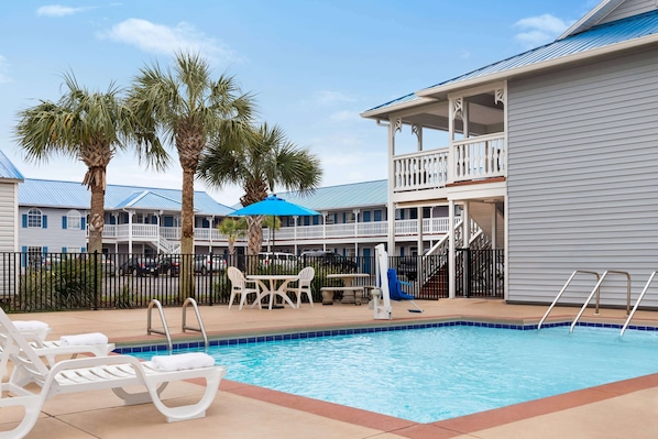
M91 191L88 251L100 253L106 174L117 150L135 141L140 160L156 168L164 167L167 154L160 143L138 139L140 128L113 84L106 92L91 92L73 74L64 75L64 84L67 90L57 102L42 100L19 112L15 135L29 161L47 162L61 154L87 165L83 184Z

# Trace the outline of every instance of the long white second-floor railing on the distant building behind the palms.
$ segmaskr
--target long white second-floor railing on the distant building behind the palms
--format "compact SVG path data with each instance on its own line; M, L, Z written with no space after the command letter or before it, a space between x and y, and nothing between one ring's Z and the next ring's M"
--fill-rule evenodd
M456 219L457 221L459 218ZM448 218L425 218L423 219L424 235L441 235L448 233ZM130 228L132 227L132 234ZM263 229L263 240L268 240L270 230ZM414 235L418 232L418 220L396 220L396 235ZM351 222L341 224L326 226L297 226L284 227L274 232L277 242L282 241L304 241L321 239L341 239L341 238L385 238L388 234L387 221L374 222ZM107 224L102 231L103 238L117 239L119 241L151 241L158 242L164 239L167 241L180 240L180 228L177 227L157 227L155 224ZM196 242L227 242L228 237L219 233L217 229L196 228Z

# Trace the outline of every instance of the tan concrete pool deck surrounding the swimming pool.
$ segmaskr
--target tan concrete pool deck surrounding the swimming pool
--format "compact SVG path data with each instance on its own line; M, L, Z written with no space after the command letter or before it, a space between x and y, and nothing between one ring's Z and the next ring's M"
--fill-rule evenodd
M425 310L423 314L409 312L409 304L393 303L392 320L373 320L368 305L316 304L310 308L303 304L300 309L245 308L241 311L237 307L228 310L226 306L205 306L199 311L209 337L233 338L440 319L531 325L537 323L547 309L546 306L506 305L487 299L420 300L418 304ZM578 310L556 307L550 320L571 321ZM193 310L187 312L187 325L196 326ZM175 341L199 337L196 332L182 332L180 308L165 308L165 315ZM146 316L145 309L133 309L23 314L11 318L48 322L54 328L50 339L100 331L119 345L162 342L162 336L146 334ZM588 309L582 319L623 325L625 310L602 309L594 316L593 309ZM638 311L633 323L658 327L658 312ZM153 326L161 327L155 309ZM299 373L311 376L310 371ZM200 395L200 387L187 382L167 387L164 394L168 403L196 395ZM658 374L432 424L417 424L223 380L205 418L176 424L167 424L151 404L122 406L109 391L55 396L45 404L42 417L28 438L652 439L658 435L657 415ZM11 428L18 419L20 414L14 409L2 409L0 431Z

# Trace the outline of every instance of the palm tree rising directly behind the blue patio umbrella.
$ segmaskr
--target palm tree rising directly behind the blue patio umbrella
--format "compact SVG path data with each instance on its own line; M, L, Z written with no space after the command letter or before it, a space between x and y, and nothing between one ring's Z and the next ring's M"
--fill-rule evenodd
M227 184L242 186L240 197L246 207L262 201L275 185L285 190L310 194L322 177L320 161L308 149L286 139L284 131L263 123L246 141L215 138L199 164L199 176L208 185L221 188ZM263 243L263 217L246 217L249 224L248 255L256 255Z

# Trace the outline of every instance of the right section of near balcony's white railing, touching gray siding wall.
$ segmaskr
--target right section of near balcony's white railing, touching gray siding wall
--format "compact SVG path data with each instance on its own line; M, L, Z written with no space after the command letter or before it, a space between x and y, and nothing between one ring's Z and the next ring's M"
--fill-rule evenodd
M507 145L503 133L452 142L454 182L500 177L507 173Z

